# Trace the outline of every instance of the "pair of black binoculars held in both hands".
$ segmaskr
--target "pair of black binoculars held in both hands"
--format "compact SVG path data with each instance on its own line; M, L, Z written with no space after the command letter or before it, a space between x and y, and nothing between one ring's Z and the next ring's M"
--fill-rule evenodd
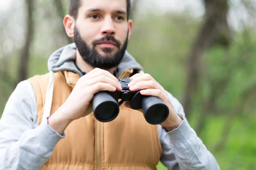
M145 120L157 125L166 120L169 115L167 105L156 96L143 96L140 91L132 92L128 88L129 77L118 79L122 85L121 91L100 91L93 96L93 114L100 122L110 122L119 114L119 106L128 101L134 110L142 109ZM121 99L120 102L118 100Z

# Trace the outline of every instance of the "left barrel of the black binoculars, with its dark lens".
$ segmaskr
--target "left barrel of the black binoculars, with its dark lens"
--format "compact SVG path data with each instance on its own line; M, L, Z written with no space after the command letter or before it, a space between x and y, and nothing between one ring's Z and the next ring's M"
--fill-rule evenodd
M100 122L110 122L116 119L119 105L108 93L100 91L93 97L93 114Z

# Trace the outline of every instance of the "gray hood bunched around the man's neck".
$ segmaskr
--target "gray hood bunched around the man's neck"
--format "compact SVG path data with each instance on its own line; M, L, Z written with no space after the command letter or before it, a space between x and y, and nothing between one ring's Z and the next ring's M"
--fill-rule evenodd
M48 70L49 71L73 71L80 76L82 73L76 68L74 61L76 60L76 44L72 43L56 50L48 59ZM119 77L126 69L143 70L143 67L125 51L125 55L116 68L116 77Z

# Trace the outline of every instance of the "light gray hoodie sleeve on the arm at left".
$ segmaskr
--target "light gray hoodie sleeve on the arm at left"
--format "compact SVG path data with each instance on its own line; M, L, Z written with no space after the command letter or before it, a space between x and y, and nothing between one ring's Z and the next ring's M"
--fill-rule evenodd
M20 82L9 97L0 119L0 170L40 169L64 138L47 123L37 123L32 85Z

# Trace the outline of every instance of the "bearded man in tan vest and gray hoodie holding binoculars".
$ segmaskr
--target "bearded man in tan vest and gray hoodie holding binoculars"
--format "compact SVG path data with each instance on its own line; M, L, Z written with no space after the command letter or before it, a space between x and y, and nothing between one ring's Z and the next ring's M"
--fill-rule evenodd
M126 52L133 23L130 0L70 0L64 18L74 44L55 51L49 73L20 82L0 120L0 169L218 170L189 126L183 108ZM111 122L99 122L91 100L99 91L157 96L169 108L161 125L145 121L128 102Z

